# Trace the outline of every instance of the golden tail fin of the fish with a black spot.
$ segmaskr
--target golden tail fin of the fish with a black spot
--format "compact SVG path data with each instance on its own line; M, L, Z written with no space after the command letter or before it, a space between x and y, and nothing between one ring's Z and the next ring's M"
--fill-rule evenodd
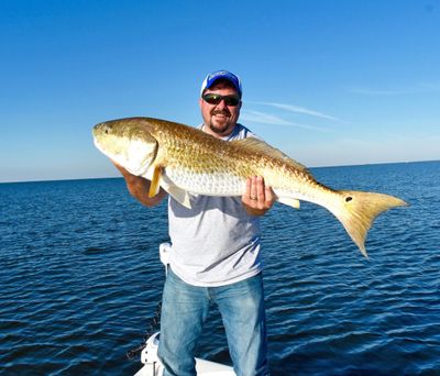
M365 237L374 219L388 209L408 203L397 197L383 193L355 190L341 190L338 193L340 197L331 212L342 223L362 254L369 258L365 250Z

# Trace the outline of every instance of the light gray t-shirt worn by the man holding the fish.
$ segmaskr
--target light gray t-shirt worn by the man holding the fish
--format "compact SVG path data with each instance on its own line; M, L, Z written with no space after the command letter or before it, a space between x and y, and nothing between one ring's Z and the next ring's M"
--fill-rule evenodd
M254 134L238 124L223 140ZM223 286L261 272L260 218L249 215L241 197L191 195L191 209L168 198L173 272L194 286Z

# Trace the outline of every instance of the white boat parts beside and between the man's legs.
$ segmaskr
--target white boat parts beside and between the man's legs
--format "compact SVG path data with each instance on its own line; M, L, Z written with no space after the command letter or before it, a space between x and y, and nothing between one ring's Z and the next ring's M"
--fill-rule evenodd
M157 356L158 332L146 340L141 353L143 367L134 376L162 376L164 366ZM237 376L231 366L196 357L197 376Z

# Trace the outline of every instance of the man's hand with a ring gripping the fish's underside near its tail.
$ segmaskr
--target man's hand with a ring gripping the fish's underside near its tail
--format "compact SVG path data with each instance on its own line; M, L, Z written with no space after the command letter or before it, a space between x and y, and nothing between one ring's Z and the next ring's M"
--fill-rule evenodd
M241 200L251 215L263 215L272 208L276 196L271 187L264 184L264 178L254 176L246 180L246 190Z

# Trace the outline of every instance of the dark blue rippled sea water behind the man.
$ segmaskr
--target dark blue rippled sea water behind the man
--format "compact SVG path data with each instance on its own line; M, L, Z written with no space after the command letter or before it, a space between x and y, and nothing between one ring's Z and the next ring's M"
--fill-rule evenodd
M440 375L440 162L311 169L410 203L382 214L365 259L327 210L263 219L273 375ZM166 204L123 179L0 185L0 374L133 375L161 301ZM216 307L198 356L229 363Z

